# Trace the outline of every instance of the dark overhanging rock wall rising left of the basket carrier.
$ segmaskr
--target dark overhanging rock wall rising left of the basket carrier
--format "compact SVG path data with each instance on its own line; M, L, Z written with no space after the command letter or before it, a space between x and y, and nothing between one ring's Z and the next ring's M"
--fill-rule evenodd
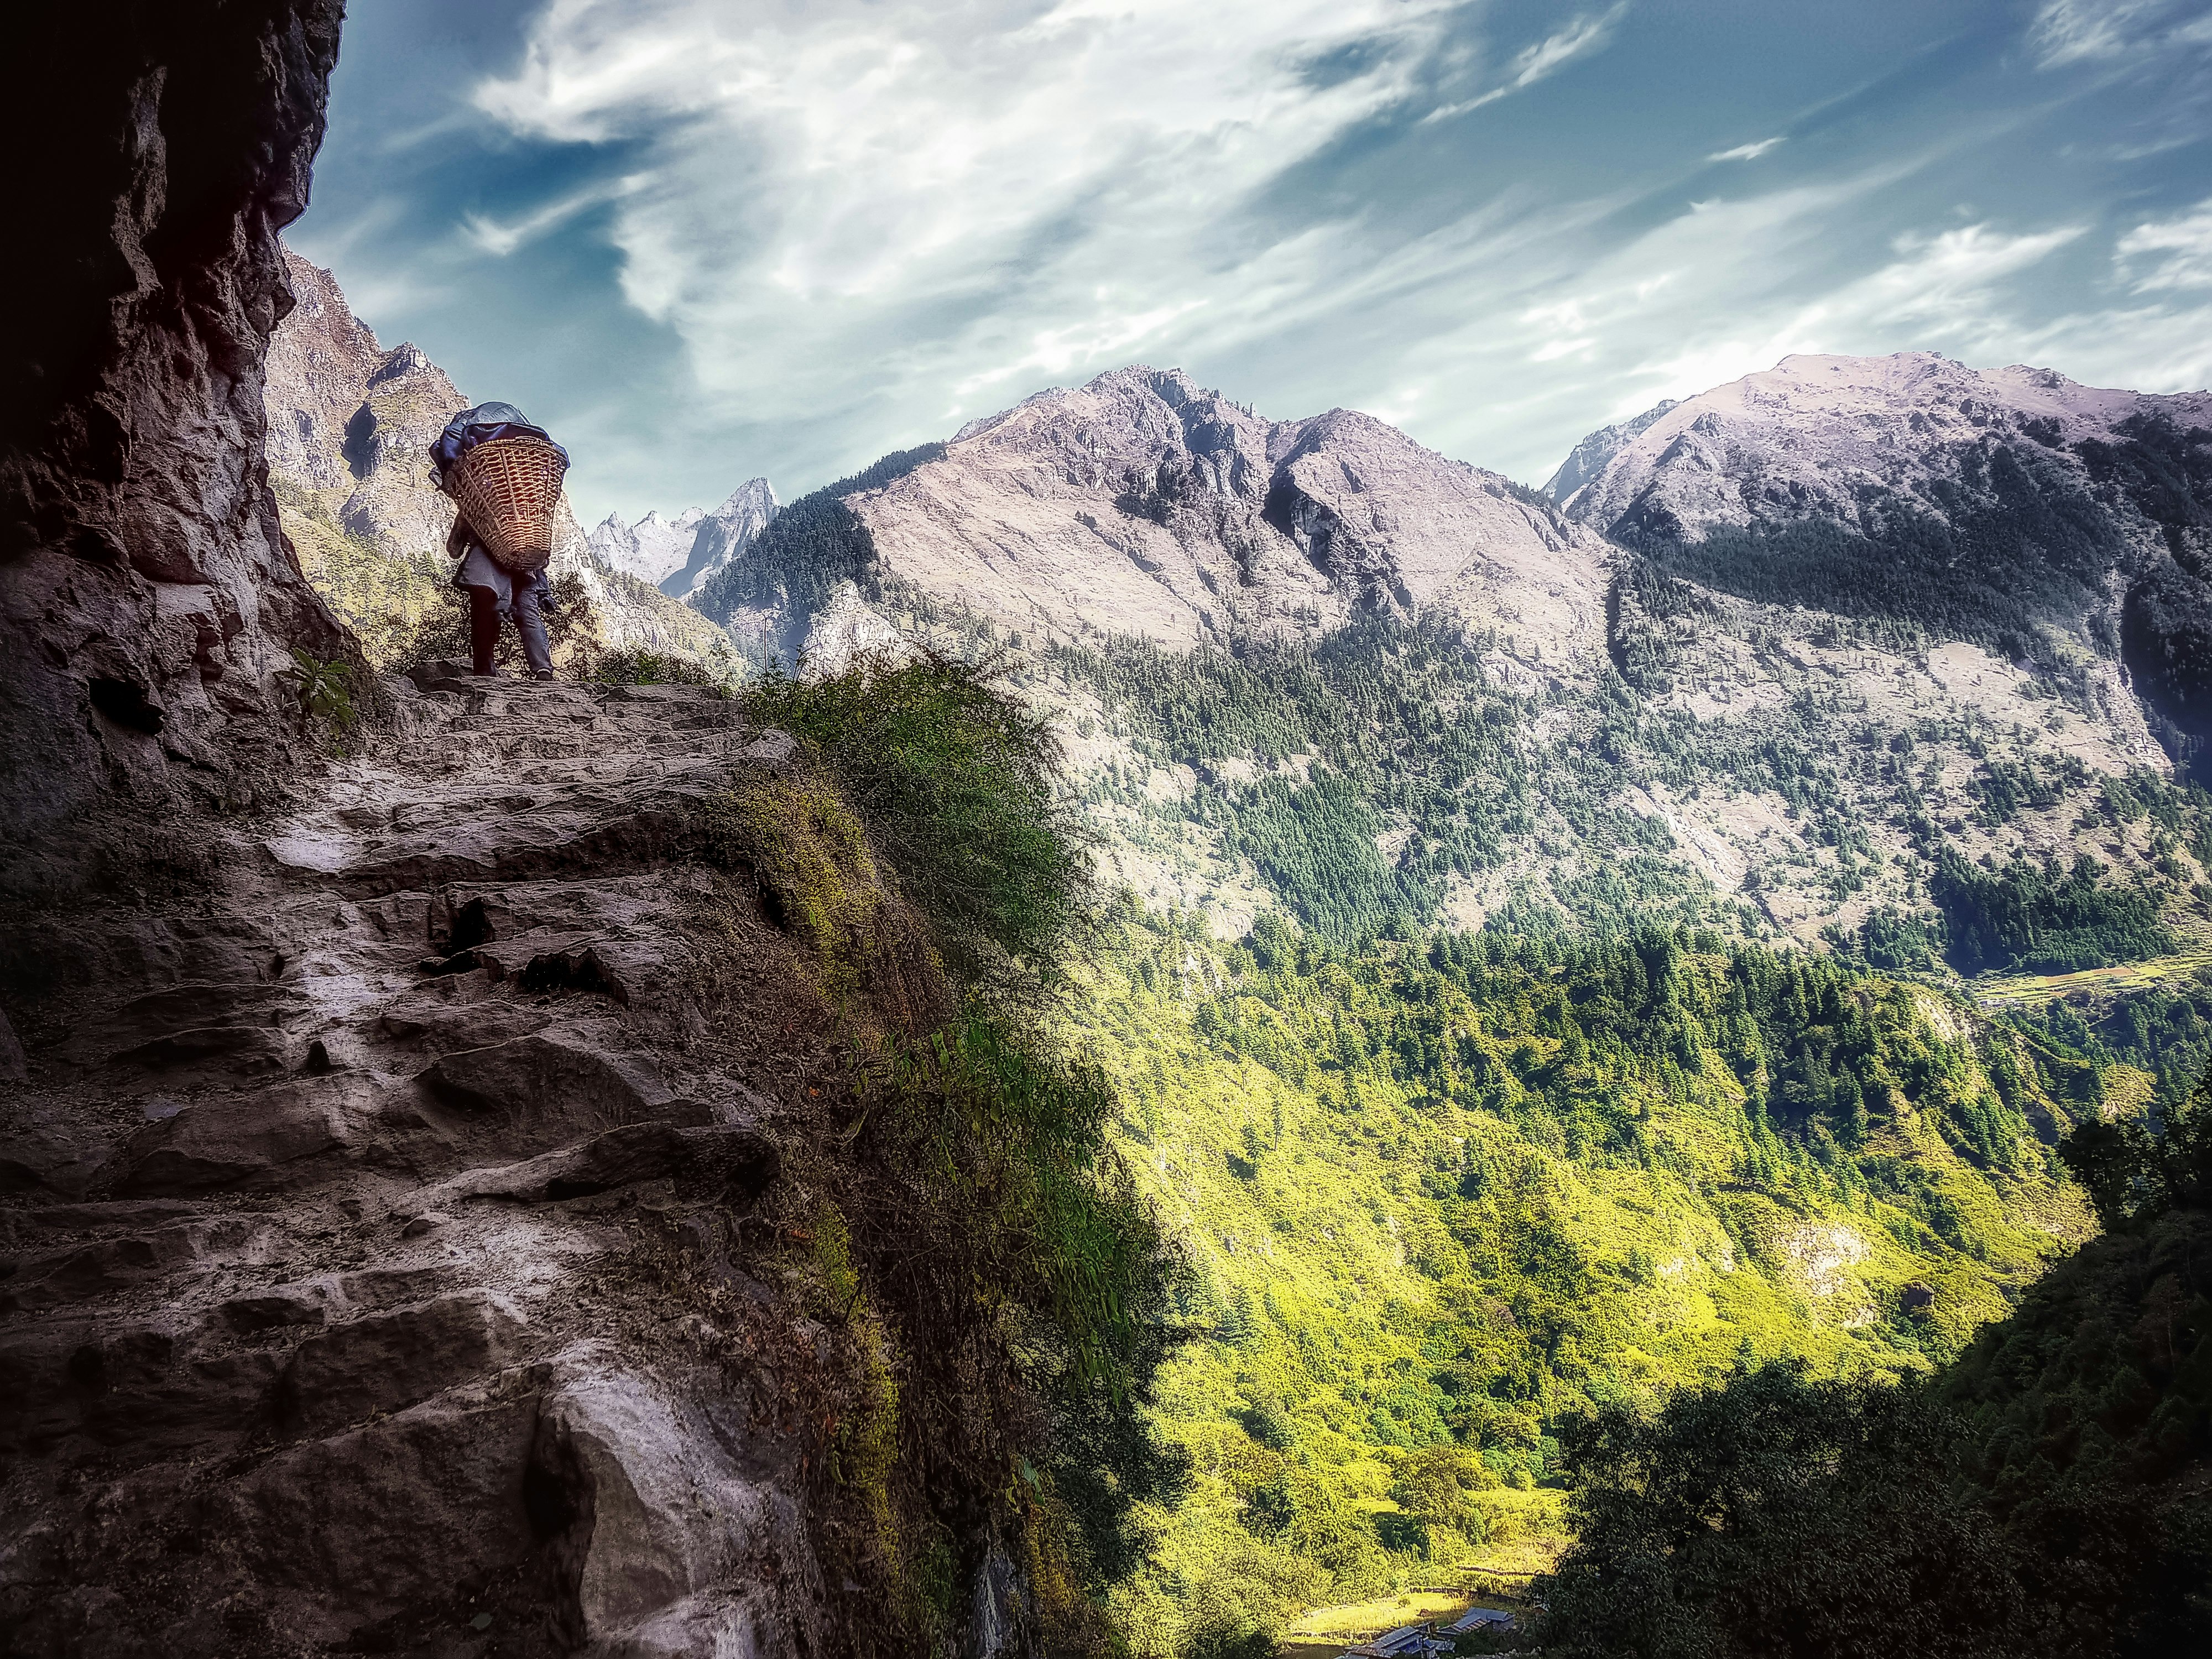
M345 648L261 460L276 230L307 201L338 15L40 7L18 31L38 257L0 356L0 891L126 869L119 823L250 799L290 750L288 650Z

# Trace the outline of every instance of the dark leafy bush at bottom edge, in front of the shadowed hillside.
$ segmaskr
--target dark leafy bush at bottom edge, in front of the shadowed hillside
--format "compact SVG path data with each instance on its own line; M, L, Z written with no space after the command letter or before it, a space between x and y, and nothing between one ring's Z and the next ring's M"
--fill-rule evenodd
M1575 1548L1546 1648L1637 1659L2020 1652L2020 1584L1960 1504L1964 1425L1924 1387L1798 1363L1571 1422Z

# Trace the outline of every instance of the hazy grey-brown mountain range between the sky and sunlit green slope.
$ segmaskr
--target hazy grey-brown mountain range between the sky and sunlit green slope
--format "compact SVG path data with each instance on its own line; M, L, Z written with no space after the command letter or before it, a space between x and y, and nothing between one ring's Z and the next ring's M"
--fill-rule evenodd
M418 456L460 394L292 276L294 540L434 544ZM1221 931L1655 916L1891 967L2212 938L2208 555L2212 396L1931 354L1661 403L1546 491L1128 367L787 507L754 478L557 553L655 648L1011 650L1119 874ZM2084 858L2088 887L2046 874ZM1960 945L1991 907L2011 942Z

